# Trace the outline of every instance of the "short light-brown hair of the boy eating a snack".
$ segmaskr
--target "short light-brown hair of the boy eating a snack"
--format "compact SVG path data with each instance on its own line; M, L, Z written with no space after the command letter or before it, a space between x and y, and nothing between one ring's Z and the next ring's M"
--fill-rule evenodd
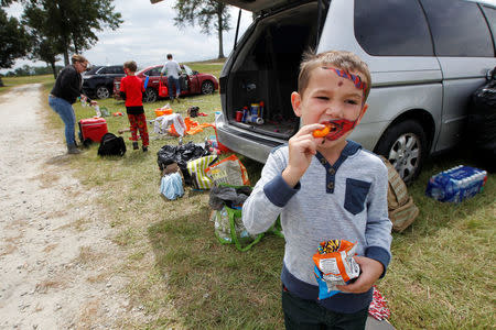
M321 54L314 52L305 52L303 54L303 61L300 64L300 75L298 76L298 92L303 96L306 87L309 86L310 75L312 70L319 66L332 65L336 68L345 72L358 72L367 81L366 89L364 91L364 102L367 100L370 92L371 77L368 70L368 65L362 61L357 55L346 51L328 51Z

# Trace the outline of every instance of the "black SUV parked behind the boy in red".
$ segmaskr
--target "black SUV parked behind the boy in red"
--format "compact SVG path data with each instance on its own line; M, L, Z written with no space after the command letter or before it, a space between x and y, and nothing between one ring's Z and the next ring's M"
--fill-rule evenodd
M122 65L95 66L83 75L85 95L106 99L111 96L114 78L126 76Z

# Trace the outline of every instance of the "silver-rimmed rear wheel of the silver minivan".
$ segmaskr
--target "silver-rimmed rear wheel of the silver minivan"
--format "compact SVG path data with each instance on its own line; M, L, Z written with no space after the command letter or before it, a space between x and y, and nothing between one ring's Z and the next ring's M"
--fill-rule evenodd
M375 152L388 158L403 182L409 184L420 174L425 160L425 132L418 121L402 121L386 130Z

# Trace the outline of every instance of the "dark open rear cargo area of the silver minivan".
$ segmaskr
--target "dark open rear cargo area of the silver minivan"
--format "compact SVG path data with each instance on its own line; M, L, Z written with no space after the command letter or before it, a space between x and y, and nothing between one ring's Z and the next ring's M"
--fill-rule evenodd
M295 1L225 2L265 10L261 3L288 4ZM298 131L300 121L291 107L291 92L298 89L303 53L316 45L319 4L316 1L296 2L300 4L259 15L236 45L231 61L226 63L225 76L222 77L225 90L220 92L226 95L223 106L229 124L283 140ZM321 8L321 15L325 12L326 6ZM260 102L265 107L259 122L263 123L236 120L237 111Z

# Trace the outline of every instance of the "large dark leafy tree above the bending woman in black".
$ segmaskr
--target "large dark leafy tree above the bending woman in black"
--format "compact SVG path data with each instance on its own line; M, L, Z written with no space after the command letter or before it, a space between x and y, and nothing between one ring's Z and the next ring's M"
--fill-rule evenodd
M114 12L114 0L26 1L23 18L32 34L43 40L43 47L40 45L37 50L64 54L65 65L69 63L71 52L80 53L96 44L97 31L116 30L122 23L121 14Z

